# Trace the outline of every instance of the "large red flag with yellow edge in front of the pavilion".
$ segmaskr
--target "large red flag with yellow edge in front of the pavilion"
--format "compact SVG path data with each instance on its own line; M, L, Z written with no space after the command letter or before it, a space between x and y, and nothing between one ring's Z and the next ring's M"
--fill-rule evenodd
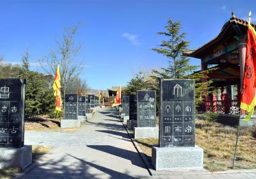
M244 120L250 120L256 104L256 32L248 23L246 59L244 65L244 76L241 96L241 109L248 111Z

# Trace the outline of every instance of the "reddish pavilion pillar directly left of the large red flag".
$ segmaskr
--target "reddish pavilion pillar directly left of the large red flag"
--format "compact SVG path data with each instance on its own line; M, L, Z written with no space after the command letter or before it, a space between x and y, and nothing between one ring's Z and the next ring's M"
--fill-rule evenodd
M246 58L247 35L235 36L235 38L237 40L238 47L239 47L240 84L241 84L241 86L243 86L243 75L244 75L244 64L245 64L245 58ZM239 91L241 91L241 90L239 90ZM239 96L240 96L240 94L239 94ZM241 98L239 98L239 104L240 104L240 99ZM245 114L245 111L242 110L241 114Z

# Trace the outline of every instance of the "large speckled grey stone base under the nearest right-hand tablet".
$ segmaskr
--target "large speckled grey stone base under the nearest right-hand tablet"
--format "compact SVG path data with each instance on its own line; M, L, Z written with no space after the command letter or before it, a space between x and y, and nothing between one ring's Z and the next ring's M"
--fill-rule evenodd
M202 169L204 149L199 146L159 148L152 146L152 165L161 169Z

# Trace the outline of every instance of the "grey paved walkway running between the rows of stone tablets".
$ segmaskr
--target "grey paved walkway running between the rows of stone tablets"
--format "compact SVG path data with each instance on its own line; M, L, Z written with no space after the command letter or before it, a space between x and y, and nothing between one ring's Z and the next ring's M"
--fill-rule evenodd
M172 178L255 179L256 173L200 174L157 172L152 177L114 109L100 109L77 132L25 133L25 144L54 146L21 178Z

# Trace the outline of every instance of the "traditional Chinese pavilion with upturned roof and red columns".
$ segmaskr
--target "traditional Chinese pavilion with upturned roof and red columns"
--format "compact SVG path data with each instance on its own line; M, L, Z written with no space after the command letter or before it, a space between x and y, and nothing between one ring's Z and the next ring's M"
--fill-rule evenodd
M220 33L195 51L184 54L201 59L201 70L217 68L209 74L214 90L209 91L201 111L239 113L240 76L244 71L248 22L232 17L223 25ZM252 24L255 28L255 25ZM202 79L202 80L209 80Z

